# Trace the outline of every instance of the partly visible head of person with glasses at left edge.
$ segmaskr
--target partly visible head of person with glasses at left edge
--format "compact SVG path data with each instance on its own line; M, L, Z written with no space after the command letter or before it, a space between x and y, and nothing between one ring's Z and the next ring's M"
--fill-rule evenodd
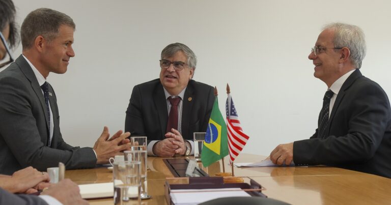
M13 62L10 47L17 44L15 6L12 1L0 2L0 69ZM8 58L7 58L8 53Z

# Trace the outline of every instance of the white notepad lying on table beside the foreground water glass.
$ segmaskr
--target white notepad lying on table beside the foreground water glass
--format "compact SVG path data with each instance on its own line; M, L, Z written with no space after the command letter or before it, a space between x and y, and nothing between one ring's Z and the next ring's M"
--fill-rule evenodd
M114 184L109 183L97 183L97 184L82 184L79 185L81 198L103 198L113 197Z

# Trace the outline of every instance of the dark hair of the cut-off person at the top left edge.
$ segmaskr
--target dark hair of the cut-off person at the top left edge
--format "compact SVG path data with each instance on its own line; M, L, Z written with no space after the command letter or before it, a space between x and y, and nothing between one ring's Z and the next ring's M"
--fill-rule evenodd
M15 13L15 5L11 0L0 0L0 32L3 32L7 24L10 26L8 42L11 48L14 48L19 43Z

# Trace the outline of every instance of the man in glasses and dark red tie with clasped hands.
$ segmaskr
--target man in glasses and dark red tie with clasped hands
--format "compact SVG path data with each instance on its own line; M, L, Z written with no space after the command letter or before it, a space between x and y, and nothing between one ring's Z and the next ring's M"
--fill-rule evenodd
M147 136L149 155L191 155L193 133L206 131L214 102L213 87L192 80L196 64L189 47L170 44L161 51L160 79L134 86L125 131ZM170 120L173 116L174 121Z

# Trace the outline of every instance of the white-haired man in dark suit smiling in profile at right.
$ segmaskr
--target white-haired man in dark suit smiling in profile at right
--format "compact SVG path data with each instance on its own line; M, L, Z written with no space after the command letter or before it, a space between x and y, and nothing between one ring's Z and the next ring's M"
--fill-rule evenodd
M278 145L273 163L324 164L391 178L391 108L383 89L358 70L366 54L355 25L324 27L309 55L328 87L310 139Z

